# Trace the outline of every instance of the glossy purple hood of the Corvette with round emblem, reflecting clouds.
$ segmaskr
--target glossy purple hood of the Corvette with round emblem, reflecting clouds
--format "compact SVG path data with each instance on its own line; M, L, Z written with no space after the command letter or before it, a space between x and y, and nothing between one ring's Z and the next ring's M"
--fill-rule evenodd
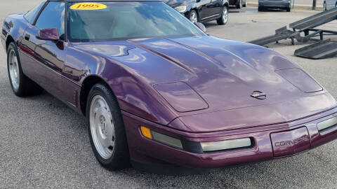
M248 43L193 36L143 38L103 45L110 45L112 49L119 47L118 55L110 53L110 58L162 94L173 110L177 104L178 108L185 105L191 108L177 113L178 116L196 111L210 113L270 106L326 93L286 57ZM99 44L94 46L100 49ZM190 89L177 85L175 90L174 85L165 85L177 82L185 83ZM172 90L174 94L169 94ZM266 98L251 97L255 91L265 93ZM192 98L194 100L189 100ZM191 103L194 104L191 106Z

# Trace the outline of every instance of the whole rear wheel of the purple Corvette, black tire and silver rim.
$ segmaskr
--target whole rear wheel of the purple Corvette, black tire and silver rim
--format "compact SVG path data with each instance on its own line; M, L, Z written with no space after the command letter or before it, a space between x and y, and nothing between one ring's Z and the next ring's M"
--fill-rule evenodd
M10 43L7 49L7 71L9 83L14 94L18 97L28 97L41 94L44 89L34 83L22 72L18 48L15 43Z

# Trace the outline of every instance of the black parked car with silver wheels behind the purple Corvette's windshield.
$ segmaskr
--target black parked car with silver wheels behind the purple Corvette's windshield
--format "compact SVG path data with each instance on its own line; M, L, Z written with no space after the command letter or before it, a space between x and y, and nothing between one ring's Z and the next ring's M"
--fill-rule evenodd
M218 25L228 22L228 0L173 0L167 4L192 22L216 20Z

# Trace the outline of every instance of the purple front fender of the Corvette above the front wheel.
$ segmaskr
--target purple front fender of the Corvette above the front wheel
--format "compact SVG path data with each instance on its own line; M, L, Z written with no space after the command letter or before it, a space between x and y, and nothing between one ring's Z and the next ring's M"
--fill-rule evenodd
M101 78L114 92L121 110L133 115L161 125L178 117L146 78L112 58L70 45L64 72L81 86L87 78Z

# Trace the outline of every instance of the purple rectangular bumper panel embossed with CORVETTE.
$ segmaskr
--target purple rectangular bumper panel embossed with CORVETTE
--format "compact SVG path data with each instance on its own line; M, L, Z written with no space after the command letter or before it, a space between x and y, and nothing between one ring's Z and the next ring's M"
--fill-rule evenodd
M286 132L270 134L274 157L293 155L310 148L310 137L307 127Z

